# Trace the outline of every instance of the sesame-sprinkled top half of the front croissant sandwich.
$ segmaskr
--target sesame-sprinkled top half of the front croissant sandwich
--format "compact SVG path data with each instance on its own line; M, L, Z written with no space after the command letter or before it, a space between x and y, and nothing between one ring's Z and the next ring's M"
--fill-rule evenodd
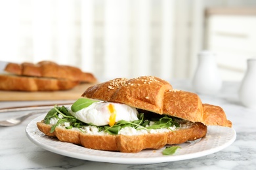
M172 86L154 76L127 80L117 78L96 84L82 95L91 99L125 103L131 107L167 114L205 125L231 127L223 110L206 105L196 93L173 90Z

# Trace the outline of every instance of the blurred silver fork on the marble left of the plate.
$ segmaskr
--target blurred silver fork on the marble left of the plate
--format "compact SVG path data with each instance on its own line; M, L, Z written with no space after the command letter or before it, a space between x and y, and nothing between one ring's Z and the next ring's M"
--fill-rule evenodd
M5 126L5 127L9 127L9 126L16 126L18 124L20 124L21 122L23 122L24 120L26 120L26 118L34 115L34 114L41 114L41 113L45 113L44 111L36 111L36 112L29 112L28 114L16 117L16 118L10 118L7 120L0 120L0 126Z

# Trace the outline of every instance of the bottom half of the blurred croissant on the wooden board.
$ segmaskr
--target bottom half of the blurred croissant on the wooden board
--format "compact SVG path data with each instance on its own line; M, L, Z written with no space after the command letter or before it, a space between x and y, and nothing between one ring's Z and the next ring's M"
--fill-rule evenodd
M0 75L0 82L0 90L26 92L70 90L79 84L78 81L66 79L36 78L15 75Z

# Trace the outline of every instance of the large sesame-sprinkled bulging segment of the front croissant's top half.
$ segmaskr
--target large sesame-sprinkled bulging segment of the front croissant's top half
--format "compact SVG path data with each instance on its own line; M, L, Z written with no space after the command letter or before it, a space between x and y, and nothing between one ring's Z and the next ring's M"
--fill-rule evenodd
M171 84L165 80L154 76L140 76L128 80L112 95L110 101L161 114L163 96L171 89Z

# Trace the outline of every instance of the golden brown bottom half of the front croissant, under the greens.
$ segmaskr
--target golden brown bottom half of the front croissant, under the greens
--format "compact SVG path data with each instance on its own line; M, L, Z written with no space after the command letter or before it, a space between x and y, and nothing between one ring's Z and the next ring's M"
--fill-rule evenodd
M166 144L180 144L188 140L200 139L207 133L207 126L196 122L186 129L145 135L89 135L73 129L56 127L49 133L51 125L37 122L40 131L60 141L81 144L85 148L120 152L140 152L146 148L158 149ZM74 134L74 135L73 135Z

